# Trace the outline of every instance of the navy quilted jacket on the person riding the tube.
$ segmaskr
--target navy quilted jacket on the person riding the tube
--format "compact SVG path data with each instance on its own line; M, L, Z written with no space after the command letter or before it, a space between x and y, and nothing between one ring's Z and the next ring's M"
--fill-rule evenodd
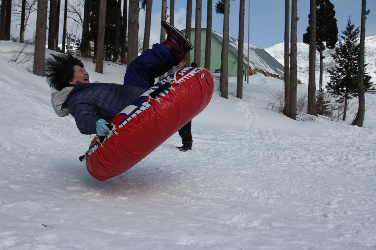
M97 133L99 119L111 120L145 91L128 85L77 82L68 95L68 109L80 132L91 135Z

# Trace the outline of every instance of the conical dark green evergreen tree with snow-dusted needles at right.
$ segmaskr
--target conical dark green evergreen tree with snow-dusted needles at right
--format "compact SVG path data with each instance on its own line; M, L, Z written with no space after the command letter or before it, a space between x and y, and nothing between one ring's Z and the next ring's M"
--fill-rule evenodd
M355 28L350 17L347 19L346 30L341 31L343 41L338 42L335 53L331 54L337 63L332 70L328 70L331 80L326 88L332 96L338 97L337 102L344 103L343 121L346 120L347 102L352 97L358 96L359 72L359 42L357 40L359 27ZM364 64L366 67L367 64ZM371 76L364 73L364 90L370 87Z

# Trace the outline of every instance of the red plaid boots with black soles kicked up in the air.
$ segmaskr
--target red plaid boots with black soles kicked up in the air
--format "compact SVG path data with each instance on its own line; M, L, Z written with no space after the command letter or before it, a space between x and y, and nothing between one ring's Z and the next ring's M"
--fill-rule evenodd
M193 49L192 43L183 35L183 33L168 22L162 21L161 26L167 34L167 40L161 44L166 46L176 61L181 61L185 56L185 53Z

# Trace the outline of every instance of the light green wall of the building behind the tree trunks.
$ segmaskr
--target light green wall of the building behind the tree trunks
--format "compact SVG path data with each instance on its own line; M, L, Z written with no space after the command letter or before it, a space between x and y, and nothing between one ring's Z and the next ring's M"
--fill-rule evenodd
M191 39L190 42L194 46L194 29L191 30ZM182 30L182 33L185 35L185 30ZM205 43L206 43L206 28L201 29L201 65L200 67L204 67L205 65ZM222 43L218 41L212 35L211 41L211 58L210 58L210 71L215 72L217 69L221 68L221 53L222 53ZM193 62L194 58L194 49L190 51L190 62ZM235 62L233 60L236 60ZM197 62L196 62L197 63ZM243 63L243 70L244 72L246 69L246 64ZM228 60L228 76L229 77L237 77L238 72L238 57L237 55L233 54L229 50L229 60ZM243 76L245 76L243 74Z

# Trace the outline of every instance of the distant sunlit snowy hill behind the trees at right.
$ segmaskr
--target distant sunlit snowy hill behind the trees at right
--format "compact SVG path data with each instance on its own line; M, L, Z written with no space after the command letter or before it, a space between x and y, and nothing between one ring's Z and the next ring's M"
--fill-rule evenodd
M276 58L282 65L285 64L284 59L284 46L285 43L279 43L268 48L265 48L270 55ZM376 36L365 37L365 51L364 51L365 63L368 63L366 71L372 76L372 80L376 83ZM325 69L330 69L335 66L335 62L330 54L334 53L334 49L325 49L324 55L324 86L325 83L330 81L329 74ZM309 45L305 43L297 43L297 65L298 65L298 78L302 81L307 81L305 78L308 76L309 65ZM316 51L316 70L317 70L317 82L318 82L318 70L320 70L320 54Z

